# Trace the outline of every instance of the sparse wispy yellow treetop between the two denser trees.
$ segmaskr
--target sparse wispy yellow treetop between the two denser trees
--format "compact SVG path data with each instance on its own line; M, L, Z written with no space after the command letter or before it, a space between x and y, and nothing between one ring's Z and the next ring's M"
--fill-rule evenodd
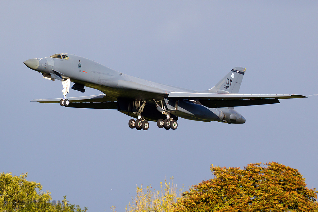
M157 211L157 212L170 212L173 211L173 203L175 203L182 189L177 192L176 185L173 184L173 177L170 178L170 181L164 181L164 185L160 182L161 190L156 191L152 189L151 185L147 188L136 188L136 196L131 204L129 202L128 208L126 207L126 212L146 212L146 211ZM112 210L115 211L115 207L112 207Z

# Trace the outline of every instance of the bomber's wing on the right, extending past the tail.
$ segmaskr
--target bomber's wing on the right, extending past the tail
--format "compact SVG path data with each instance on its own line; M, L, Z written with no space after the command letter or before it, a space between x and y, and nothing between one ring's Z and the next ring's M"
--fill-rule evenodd
M278 99L307 98L293 94L236 94L171 92L171 99L197 100L209 108L266 105L280 103Z

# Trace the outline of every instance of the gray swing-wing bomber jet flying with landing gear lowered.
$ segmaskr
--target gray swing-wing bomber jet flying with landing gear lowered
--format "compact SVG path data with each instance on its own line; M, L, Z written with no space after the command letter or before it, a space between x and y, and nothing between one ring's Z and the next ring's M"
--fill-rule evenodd
M245 118L235 106L280 103L278 99L306 98L302 95L239 94L245 68L235 67L209 90L194 91L171 85L150 82L117 72L93 60L71 54L54 54L35 58L24 64L49 80L58 79L63 85L63 99L34 99L41 103L59 103L66 107L117 109L134 117L130 128L147 130L148 121L156 121L159 128L178 127L178 117L196 121L218 121L243 124ZM66 98L71 88L85 92L84 87L104 94Z

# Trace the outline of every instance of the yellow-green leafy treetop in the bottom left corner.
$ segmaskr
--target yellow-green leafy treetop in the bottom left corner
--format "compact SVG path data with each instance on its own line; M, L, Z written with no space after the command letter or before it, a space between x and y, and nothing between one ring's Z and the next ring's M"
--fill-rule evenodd
M68 204L66 196L62 203L49 203L52 199L50 192L41 192L41 184L27 181L27 176L27 173L20 176L0 174L0 212L86 212L86 208L81 210L78 205L75 208L74 205Z

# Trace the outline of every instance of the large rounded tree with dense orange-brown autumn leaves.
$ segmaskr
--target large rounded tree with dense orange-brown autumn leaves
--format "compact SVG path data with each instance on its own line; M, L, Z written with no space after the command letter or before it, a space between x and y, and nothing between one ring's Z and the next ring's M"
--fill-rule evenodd
M214 178L184 192L174 211L318 211L317 191L298 172L279 163L239 168L211 165Z

